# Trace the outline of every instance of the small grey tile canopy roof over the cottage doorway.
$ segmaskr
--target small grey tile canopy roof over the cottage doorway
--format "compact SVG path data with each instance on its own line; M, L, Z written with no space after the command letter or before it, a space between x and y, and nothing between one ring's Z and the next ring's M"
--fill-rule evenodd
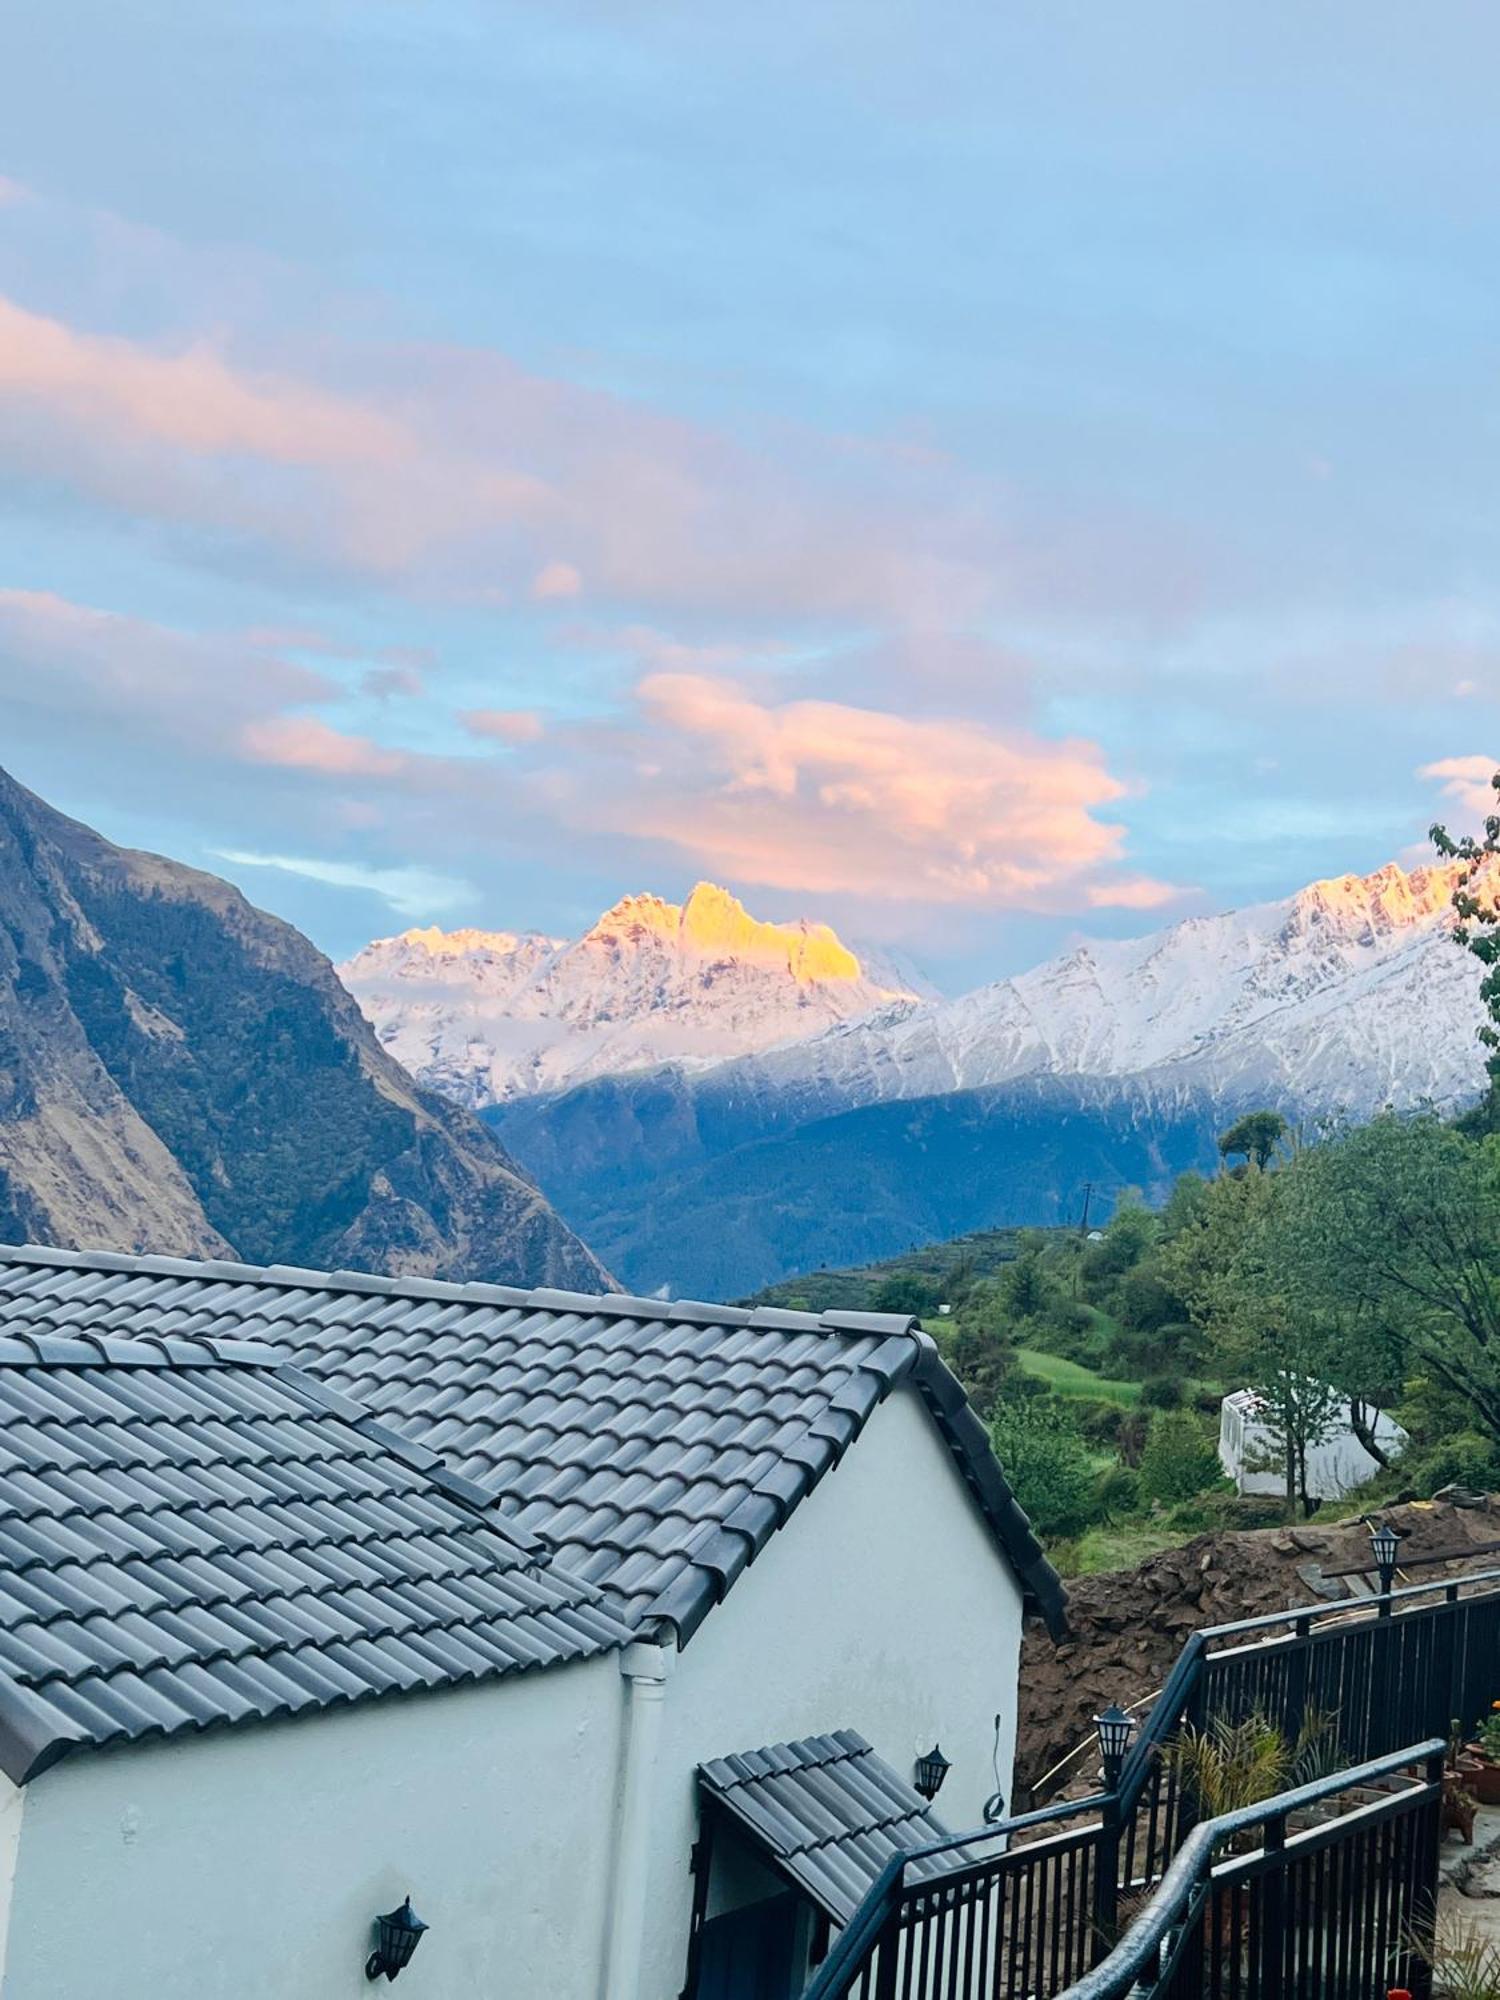
M716 1758L698 1768L698 1788L838 1926L892 1854L948 1834L854 1730Z

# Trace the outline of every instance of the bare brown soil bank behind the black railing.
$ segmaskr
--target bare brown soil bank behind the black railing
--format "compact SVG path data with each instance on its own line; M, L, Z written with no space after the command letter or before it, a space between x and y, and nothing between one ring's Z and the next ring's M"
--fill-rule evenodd
M1398 1584L1500 1570L1500 1550L1478 1552L1478 1544L1500 1540L1500 1496L1474 1506L1426 1500L1380 1508L1380 1516L1404 1536L1406 1562L1460 1552L1456 1562L1412 1568ZM1474 1552L1464 1554L1468 1550ZM1294 1528L1202 1534L1134 1570L1074 1578L1068 1584L1070 1638L1054 1646L1044 1626L1032 1622L1022 1644L1014 1810L1026 1806L1028 1788L1084 1742L1100 1708L1156 1694L1192 1630L1328 1604L1316 1588L1318 1576L1368 1562L1368 1554L1370 1532L1362 1522L1320 1528L1312 1520ZM1044 1794L1068 1788L1048 1784Z

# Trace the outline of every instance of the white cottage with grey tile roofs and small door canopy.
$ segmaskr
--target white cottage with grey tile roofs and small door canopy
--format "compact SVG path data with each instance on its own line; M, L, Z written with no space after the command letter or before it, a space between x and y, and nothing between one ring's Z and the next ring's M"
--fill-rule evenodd
M0 2000L784 2000L1026 1608L904 1318L0 1250Z

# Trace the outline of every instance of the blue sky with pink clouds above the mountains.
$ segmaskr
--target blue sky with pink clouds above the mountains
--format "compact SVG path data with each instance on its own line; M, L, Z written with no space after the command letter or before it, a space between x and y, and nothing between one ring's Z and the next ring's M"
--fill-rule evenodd
M0 64L0 764L332 956L956 990L1500 760L1492 0L160 0Z

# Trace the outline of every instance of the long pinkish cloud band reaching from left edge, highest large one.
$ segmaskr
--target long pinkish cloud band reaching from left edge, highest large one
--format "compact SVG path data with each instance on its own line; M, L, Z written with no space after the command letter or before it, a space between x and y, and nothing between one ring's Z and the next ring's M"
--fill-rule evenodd
M482 348L346 336L266 366L242 346L0 298L0 468L216 562L462 604L568 602L586 580L630 616L952 630L1076 600L1108 568L1108 530L1090 524L1080 554L1076 526L1022 528L994 480L940 452L740 436ZM1148 568L1132 540L1132 576Z

